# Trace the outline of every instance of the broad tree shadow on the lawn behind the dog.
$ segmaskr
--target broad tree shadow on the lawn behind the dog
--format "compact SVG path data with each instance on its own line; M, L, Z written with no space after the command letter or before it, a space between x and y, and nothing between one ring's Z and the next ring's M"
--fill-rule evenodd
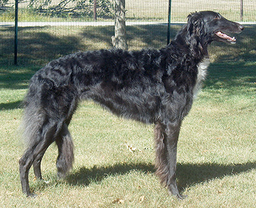
M173 39L182 24L172 25L171 38ZM51 33L51 31L57 31ZM69 35L60 34L58 28L54 27L27 27L19 28L19 67L10 67L13 63L13 28L0 28L0 65L6 66L8 70L0 73L0 87L9 89L24 89L28 81L40 67L51 60L65 56L76 51L91 51L104 47L112 47L111 36L114 35L113 26L97 26L83 28L68 28ZM74 29L74 34L72 33ZM60 30L62 31L62 30ZM166 24L153 24L144 26L127 26L127 40L132 45L138 43L138 49L154 47L160 48L166 45ZM219 81L226 84L228 89L232 86L239 86L238 77L251 76L243 81L248 87L256 82L256 27L246 26L243 33L237 34L237 44L228 45L214 43L210 46L210 54L216 54L214 63L209 67L209 76L204 86L218 89ZM102 43L103 45L97 45ZM225 49L225 53L221 52ZM246 65L246 62L252 65ZM22 67L30 67L32 70L24 74L13 72ZM2 67L4 68L4 67ZM20 84L23 83L23 84ZM25 84L24 84L25 83ZM15 105L4 104L8 108L17 108Z

